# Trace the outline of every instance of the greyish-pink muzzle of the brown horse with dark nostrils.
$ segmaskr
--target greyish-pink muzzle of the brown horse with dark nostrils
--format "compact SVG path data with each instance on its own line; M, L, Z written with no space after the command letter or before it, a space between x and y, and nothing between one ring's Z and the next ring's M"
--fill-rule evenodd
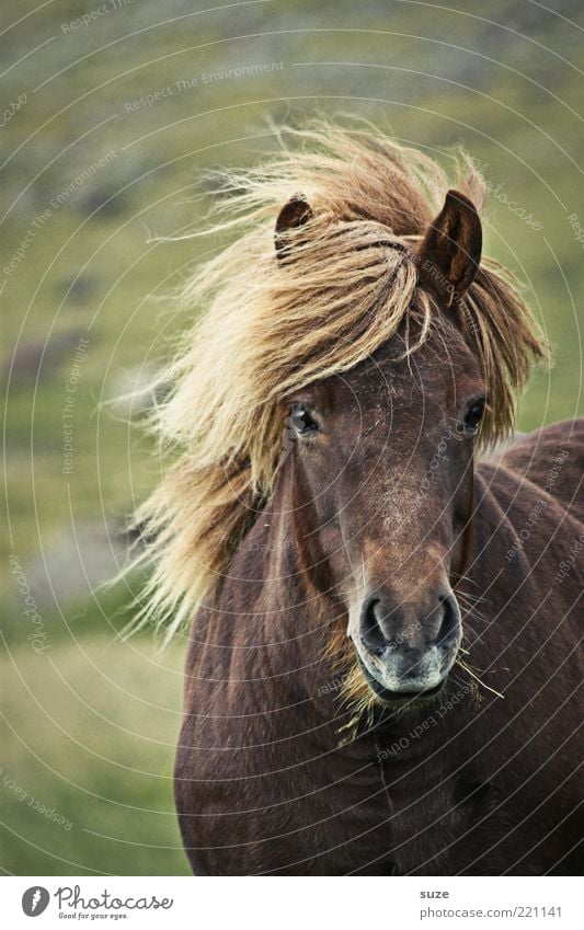
M399 602L383 590L350 617L348 635L371 690L400 700L437 693L450 671L462 635L451 588L428 597L425 607Z

